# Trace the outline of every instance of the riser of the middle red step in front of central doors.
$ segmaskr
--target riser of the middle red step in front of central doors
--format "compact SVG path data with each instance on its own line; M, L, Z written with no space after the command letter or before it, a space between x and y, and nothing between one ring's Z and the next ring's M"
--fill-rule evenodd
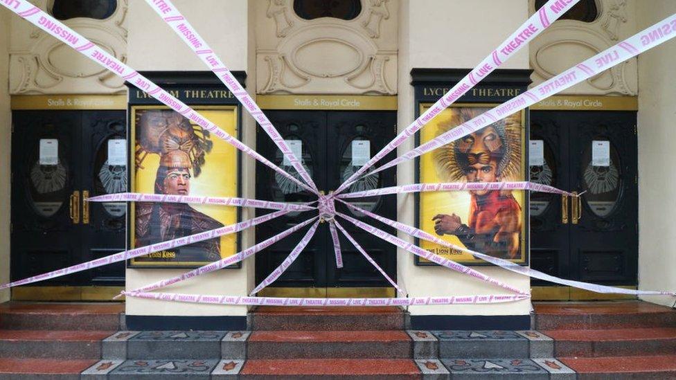
M413 359L412 342L247 343L248 359Z

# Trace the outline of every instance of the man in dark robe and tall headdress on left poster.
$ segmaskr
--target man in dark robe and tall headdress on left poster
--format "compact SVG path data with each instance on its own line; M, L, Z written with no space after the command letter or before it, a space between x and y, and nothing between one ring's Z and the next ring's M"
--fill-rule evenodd
M159 151L157 153L160 154L154 192L190 194L193 172L199 172L199 165L204 163L204 150L197 149L204 145L204 141L194 134L185 118L175 113L165 117L162 111L151 111L141 116L140 122L139 125L145 128L141 132L141 148L146 152ZM187 126L184 125L186 123ZM186 203L136 203L136 246L165 242L222 226L219 221ZM220 258L220 237L215 237L174 248L172 252L163 253L159 257L139 257L136 260L213 262Z

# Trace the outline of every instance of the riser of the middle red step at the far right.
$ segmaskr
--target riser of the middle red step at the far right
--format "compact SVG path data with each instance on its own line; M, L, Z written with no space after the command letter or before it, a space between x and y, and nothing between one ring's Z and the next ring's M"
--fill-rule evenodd
M676 339L646 341L556 341L555 356L601 357L669 355L676 352Z

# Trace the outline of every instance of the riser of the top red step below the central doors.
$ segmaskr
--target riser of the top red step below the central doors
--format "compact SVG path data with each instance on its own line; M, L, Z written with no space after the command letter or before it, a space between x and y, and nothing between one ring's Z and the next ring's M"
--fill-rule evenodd
M368 316L274 316L253 314L250 318L252 330L380 331L404 329L404 314Z

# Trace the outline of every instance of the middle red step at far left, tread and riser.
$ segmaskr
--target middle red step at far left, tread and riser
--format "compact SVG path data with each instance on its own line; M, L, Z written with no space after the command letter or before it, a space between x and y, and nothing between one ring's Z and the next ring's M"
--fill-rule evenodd
M101 341L114 332L0 330L1 358L100 359Z

